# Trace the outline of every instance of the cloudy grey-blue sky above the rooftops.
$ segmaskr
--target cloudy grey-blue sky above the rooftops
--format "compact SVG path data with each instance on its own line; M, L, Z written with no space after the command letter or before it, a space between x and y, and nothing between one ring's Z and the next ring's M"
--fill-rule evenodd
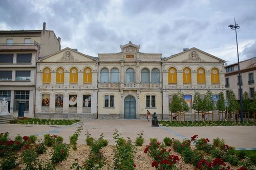
M1 0L0 30L53 30L62 48L97 57L132 41L162 57L196 47L237 62L256 57L254 0Z

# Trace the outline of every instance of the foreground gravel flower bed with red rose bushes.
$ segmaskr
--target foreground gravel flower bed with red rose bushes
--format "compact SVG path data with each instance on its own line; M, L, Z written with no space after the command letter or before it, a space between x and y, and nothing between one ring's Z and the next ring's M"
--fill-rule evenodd
M74 135L79 136L82 125ZM88 139L91 135L87 132ZM115 129L116 145L108 145L103 134L89 143L77 145L62 143L61 136L46 134L44 140L34 143L35 136L0 134L0 169L255 169L253 159L244 159L228 146L224 139L207 138L179 141L166 137L136 146L130 138L124 139ZM138 133L142 138L142 133ZM86 140L89 141L89 140ZM49 144L50 143L50 144ZM49 145L49 147L47 147ZM170 145L167 147L167 145ZM73 148L73 150L71 149Z

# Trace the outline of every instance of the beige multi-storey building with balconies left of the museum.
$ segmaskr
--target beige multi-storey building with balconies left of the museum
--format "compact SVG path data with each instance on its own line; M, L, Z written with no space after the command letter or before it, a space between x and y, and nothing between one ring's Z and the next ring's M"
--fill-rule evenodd
M60 48L45 22L42 30L0 31L0 100L9 102L11 116L34 116L36 62Z

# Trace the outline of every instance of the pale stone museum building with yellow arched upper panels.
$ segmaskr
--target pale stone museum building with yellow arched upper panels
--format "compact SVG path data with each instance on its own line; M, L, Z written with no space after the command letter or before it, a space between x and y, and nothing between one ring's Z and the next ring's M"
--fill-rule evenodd
M149 110L165 119L178 90L189 106L195 91L205 95L210 89L214 96L225 91L226 61L195 47L168 58L141 53L131 41L120 48L98 57L65 48L40 59L36 116L145 118Z

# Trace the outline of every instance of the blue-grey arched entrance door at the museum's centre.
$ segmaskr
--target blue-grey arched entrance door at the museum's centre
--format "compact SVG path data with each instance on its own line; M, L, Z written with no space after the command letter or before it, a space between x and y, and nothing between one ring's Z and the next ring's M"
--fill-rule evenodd
M124 99L124 118L136 118L136 100L132 95Z

